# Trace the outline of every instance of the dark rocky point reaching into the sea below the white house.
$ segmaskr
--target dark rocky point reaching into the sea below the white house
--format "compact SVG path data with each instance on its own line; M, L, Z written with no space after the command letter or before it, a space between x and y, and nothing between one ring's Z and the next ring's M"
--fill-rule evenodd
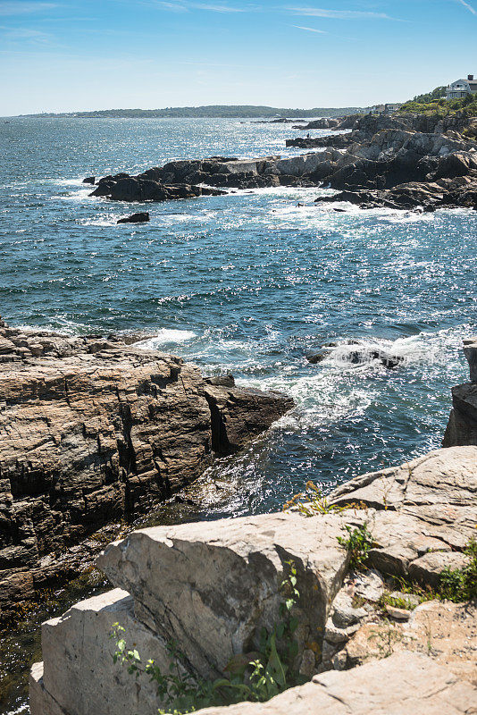
M462 133L473 129L475 120L367 114L311 123L350 132L290 139L289 147L322 149L290 158L211 156L170 162L137 176L109 175L98 181L91 196L144 202L220 196L223 189L316 186L339 191L317 198L319 203L429 212L477 208L477 141ZM306 128L311 124L300 127Z

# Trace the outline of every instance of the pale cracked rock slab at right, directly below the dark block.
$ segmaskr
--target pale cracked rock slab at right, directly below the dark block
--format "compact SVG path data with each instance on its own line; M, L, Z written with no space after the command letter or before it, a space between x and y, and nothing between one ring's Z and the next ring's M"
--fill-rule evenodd
M356 477L330 499L377 509L367 519L375 542L370 564L407 576L410 564L429 551L463 551L477 524L476 495L477 448L454 447Z

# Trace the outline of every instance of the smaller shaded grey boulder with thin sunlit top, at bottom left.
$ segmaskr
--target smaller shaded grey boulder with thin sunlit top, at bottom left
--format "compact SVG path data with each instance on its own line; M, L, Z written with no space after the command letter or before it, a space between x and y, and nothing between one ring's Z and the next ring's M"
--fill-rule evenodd
M125 666L113 664L115 644L110 634L118 622L130 648L168 671L170 660L163 640L135 618L129 593L114 589L80 601L61 618L43 624L41 686L46 709L38 708L41 696L36 678L32 715L48 712L49 702L57 703L68 715L152 715L157 711L160 702L149 677L135 678Z

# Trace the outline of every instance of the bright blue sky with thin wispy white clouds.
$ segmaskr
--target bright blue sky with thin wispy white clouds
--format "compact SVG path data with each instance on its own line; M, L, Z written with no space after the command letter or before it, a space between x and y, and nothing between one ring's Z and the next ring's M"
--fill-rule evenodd
M477 75L477 0L0 0L0 114L371 105Z

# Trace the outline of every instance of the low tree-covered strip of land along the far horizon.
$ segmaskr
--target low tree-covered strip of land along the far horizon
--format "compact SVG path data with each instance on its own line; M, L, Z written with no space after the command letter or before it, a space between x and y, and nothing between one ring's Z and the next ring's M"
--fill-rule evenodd
M243 119L259 117L338 117L344 114L363 112L363 107L314 107L313 109L287 109L276 106L255 105L209 105L209 106L172 106L165 109L102 109L96 112L71 112L68 114L23 114L35 117L86 117L86 118L180 118L180 117L237 117Z

